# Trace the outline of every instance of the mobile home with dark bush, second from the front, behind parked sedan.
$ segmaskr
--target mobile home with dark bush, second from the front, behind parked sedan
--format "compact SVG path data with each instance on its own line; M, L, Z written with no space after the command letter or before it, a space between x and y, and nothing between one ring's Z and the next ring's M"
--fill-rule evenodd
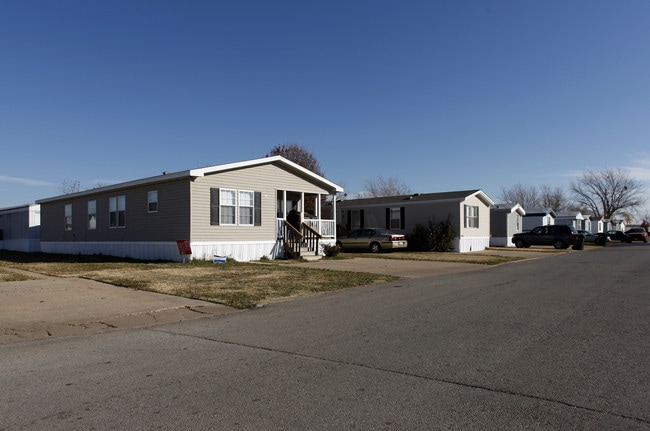
M416 193L339 203L337 220L346 230L382 227L411 234L417 224L450 218L454 232L454 251L484 250L490 246L490 206L494 202L481 190L442 193Z

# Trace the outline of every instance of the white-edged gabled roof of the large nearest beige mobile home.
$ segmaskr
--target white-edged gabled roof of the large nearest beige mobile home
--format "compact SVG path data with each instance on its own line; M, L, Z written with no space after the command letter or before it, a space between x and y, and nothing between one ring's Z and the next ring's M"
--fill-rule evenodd
M260 166L260 165L267 165L267 164L276 164L279 165L288 171L291 171L292 173L296 174L297 176L302 176L304 178L308 178L314 183L318 184L319 186L328 189L330 193L337 193L337 192L343 192L343 187L329 181L328 179L321 177L320 175L317 175L313 173L312 171L303 168L302 166L298 165L297 163L292 162L291 160L288 160L282 156L270 156L270 157L263 157L260 159L253 159L253 160L245 160L242 162L235 162L235 163L226 163L223 165L215 165L215 166L208 166L205 168L199 168L199 169L190 169L187 171L180 171L180 172L172 172L172 173L167 173L163 172L162 175L157 175L155 177L149 177L149 178L143 178L140 180L134 180L134 181L127 181L124 183L118 183L118 184L112 184L110 186L105 186L105 187L98 187L95 189L89 189L89 190L84 190L81 192L77 193L69 193L66 195L60 195L60 196L55 196L51 198L46 198L46 199L40 199L37 200L36 203L46 203L46 202L53 202L57 200L62 200L62 199L70 199L70 198L76 198L80 196L86 196L86 195L91 195L91 194L96 194L96 193L103 193L107 191L114 191L114 190L122 190L122 189L128 189L131 187L139 187L143 185L152 185L152 184L158 184L158 183L164 183L168 181L174 181L174 180L179 180L183 178L187 178L189 180L194 180L199 177L204 177L206 175L211 175L211 174L216 174L219 172L226 172L226 171L232 171L236 169L245 169L245 168L250 168L253 166Z

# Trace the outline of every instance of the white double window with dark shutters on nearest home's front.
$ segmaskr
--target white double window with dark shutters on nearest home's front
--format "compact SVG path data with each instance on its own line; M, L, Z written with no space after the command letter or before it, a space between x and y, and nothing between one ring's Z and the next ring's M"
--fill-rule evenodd
M210 224L261 226L262 193L234 189L210 189Z

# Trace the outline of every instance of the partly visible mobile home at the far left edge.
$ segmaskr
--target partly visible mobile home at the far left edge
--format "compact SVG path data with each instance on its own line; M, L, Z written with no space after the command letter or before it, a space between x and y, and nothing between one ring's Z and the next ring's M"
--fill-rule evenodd
M40 251L41 206L22 205L0 209L0 249Z

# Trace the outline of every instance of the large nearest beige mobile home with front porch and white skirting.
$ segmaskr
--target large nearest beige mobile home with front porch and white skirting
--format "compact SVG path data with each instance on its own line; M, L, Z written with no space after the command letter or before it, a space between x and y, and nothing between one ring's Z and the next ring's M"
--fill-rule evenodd
M281 156L163 173L39 200L41 249L174 261L190 251L204 260L317 255L336 241L321 202L342 191ZM318 245L307 252L298 239Z

